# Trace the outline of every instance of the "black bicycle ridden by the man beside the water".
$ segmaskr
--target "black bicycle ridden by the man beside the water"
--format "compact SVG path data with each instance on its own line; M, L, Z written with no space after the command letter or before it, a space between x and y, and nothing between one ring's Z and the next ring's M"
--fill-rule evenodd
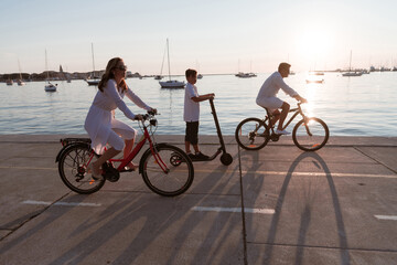
M292 140L297 147L304 151L315 151L325 146L330 130L326 124L315 117L308 117L304 115L301 105L298 103L297 108L291 108L289 112L294 113L282 129L286 129L291 121L300 115L301 120L293 127ZM269 140L278 141L280 136L275 132L275 125L270 126L270 121L275 119L269 109L265 108L267 115L265 119L246 118L238 124L235 137L237 144L246 150L259 150L264 148Z

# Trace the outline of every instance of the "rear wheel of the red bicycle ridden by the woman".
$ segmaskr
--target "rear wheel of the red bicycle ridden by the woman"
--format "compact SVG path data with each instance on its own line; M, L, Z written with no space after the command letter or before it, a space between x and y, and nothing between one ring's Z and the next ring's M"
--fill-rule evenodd
M86 144L75 144L65 148L60 157L58 171L67 188L81 194L89 194L105 184L105 178L95 180L87 170L89 159L94 160L97 157Z

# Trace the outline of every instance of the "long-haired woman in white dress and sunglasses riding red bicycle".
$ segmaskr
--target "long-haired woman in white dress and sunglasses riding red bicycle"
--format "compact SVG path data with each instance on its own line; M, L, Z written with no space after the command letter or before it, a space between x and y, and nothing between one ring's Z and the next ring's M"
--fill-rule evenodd
M133 147L137 130L115 118L115 109L119 108L127 118L131 120L141 120L141 115L135 115L122 100L126 95L137 106L157 113L157 109L144 104L128 87L126 77L127 66L122 59L111 59L103 75L98 92L94 98L93 105L87 114L84 128L92 139L92 148L101 156L89 165L92 174L100 178L100 166L108 159L115 157L124 149L124 157L129 155ZM104 152L106 144L111 148ZM130 163L129 167L135 169L136 166Z

